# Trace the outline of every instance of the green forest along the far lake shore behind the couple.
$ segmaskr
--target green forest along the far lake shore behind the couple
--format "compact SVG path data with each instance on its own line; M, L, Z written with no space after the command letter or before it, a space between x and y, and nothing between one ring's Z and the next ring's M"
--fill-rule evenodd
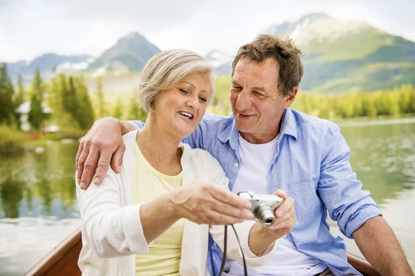
M147 114L133 93L107 100L101 77L95 80L96 89L89 91L83 75L56 75L45 81L35 72L31 84L23 84L18 77L12 85L6 65L0 66L0 152L19 151L28 140L79 138L98 118L113 116L122 120L145 120ZM208 112L229 115L230 75L216 79L216 94ZM30 131L21 131L22 114L18 108L30 102L26 116ZM393 90L367 93L309 93L300 89L292 106L313 116L329 120L344 118L390 116L415 113L415 88L401 85ZM54 125L59 131L44 134L44 127Z

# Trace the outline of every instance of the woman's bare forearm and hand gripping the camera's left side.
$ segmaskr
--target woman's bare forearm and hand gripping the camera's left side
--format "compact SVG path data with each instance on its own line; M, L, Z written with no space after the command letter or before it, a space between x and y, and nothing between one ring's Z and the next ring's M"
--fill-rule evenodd
M193 183L144 203L140 208L147 243L157 239L178 219L199 224L228 225L252 219L251 203L225 187Z

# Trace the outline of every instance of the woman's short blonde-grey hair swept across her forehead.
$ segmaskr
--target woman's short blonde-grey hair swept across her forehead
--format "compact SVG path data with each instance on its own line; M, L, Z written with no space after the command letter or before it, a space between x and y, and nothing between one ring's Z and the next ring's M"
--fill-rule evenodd
M190 73L205 73L210 77L208 103L214 96L213 67L198 53L191 50L163 50L151 57L142 69L140 91L141 106L154 111L154 99Z

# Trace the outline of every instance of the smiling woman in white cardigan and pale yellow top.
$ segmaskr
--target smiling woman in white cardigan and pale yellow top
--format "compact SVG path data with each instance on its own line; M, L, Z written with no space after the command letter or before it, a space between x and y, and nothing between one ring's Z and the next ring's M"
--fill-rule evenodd
M181 140L196 129L214 95L212 67L199 54L167 50L141 75L145 127L124 135L120 174L80 190L83 275L208 275L208 232L223 245L235 228L247 264L266 264L275 236L264 236L250 203L228 190L228 178L208 151ZM244 221L244 222L243 222ZM232 231L228 255L241 260Z

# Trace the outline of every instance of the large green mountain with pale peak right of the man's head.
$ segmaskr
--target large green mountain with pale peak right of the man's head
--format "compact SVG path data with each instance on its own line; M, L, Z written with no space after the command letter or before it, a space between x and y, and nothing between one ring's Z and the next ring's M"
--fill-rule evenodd
M415 43L365 22L314 13L262 33L288 35L303 51L304 90L360 92L415 84Z

